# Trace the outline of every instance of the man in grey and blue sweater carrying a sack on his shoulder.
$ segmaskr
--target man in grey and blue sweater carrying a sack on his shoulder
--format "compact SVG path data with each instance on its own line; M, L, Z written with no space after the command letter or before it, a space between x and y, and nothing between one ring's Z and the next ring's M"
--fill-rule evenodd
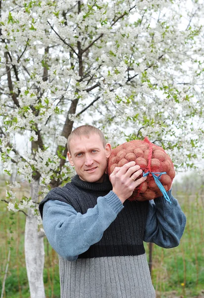
M143 241L179 244L186 217L176 199L130 202L146 177L135 162L105 174L111 146L89 125L67 140L77 175L40 203L44 230L59 255L61 298L154 298ZM110 183L111 182L111 183Z

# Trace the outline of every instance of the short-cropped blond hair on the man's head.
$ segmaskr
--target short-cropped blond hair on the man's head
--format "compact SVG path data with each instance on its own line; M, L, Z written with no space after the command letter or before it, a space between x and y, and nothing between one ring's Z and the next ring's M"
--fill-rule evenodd
M81 136L90 136L92 134L97 134L100 136L101 140L102 140L102 145L105 148L105 144L107 143L105 140L105 137L102 133L102 131L100 129L98 129L95 126L92 125L82 125L79 126L77 128L75 128L71 134L69 135L68 139L67 139L67 149L68 152L70 153L70 141L74 138L74 137L81 137Z

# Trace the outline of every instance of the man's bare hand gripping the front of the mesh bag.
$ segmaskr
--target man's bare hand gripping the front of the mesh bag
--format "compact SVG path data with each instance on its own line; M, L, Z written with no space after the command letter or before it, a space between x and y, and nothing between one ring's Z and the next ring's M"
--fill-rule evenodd
M110 181L113 187L112 191L122 203L132 195L133 190L138 185L147 179L147 176L137 179L142 172L143 170L140 169L140 166L135 165L135 161L131 161L122 167L115 167L112 174L110 174Z

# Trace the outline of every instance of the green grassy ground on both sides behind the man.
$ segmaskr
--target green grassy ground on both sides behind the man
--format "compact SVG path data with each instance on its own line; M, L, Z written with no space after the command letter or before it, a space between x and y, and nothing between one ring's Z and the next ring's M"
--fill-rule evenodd
M204 297L204 208L201 198L180 198L187 226L178 247L153 245L153 285L157 298ZM23 213L13 214L0 201L0 293L10 249L10 261L3 298L29 298L24 258ZM58 258L45 238L44 282L47 298L59 298ZM149 256L149 245L146 244Z

